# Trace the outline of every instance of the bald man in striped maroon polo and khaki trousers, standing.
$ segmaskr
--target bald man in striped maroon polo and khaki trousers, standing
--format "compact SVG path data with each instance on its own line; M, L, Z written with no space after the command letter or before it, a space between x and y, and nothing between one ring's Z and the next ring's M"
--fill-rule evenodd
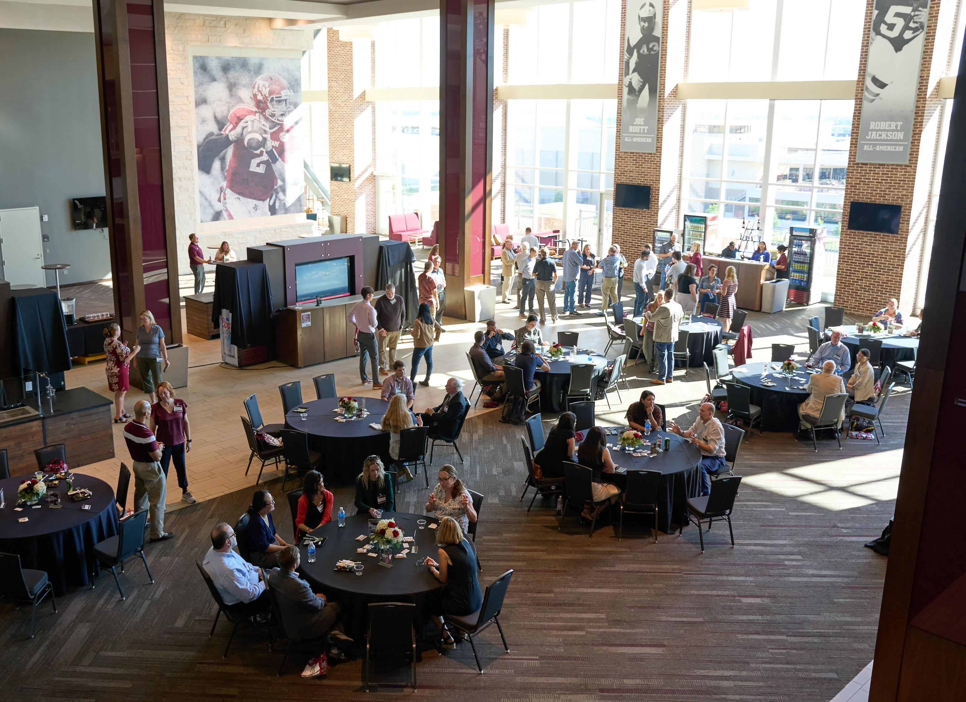
M164 541L174 534L164 531L164 498L167 482L161 470L161 451L164 445L148 429L151 403L140 400L134 404L134 418L124 427L124 440L128 444L131 472L134 473L134 511L150 508L151 540Z

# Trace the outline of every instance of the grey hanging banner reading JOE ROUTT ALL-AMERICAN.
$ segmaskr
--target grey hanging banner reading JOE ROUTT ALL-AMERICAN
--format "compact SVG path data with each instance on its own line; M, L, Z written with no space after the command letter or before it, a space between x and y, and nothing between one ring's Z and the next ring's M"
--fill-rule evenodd
M624 17L624 83L620 150L657 151L658 80L661 77L662 0L628 0Z

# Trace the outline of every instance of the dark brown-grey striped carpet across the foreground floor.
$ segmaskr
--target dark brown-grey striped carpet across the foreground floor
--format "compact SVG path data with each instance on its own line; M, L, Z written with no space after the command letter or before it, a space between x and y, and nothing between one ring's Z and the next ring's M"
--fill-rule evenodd
M644 379L631 379L634 393ZM486 495L477 547L481 584L515 574L502 616L510 653L495 630L478 649L479 676L468 644L417 666L422 699L531 700L829 700L872 658L886 559L862 544L893 515L908 388L894 397L887 437L847 440L842 451L790 435L753 435L737 473L745 476L735 513L737 548L725 525L697 547L695 527L661 534L643 528L618 542L605 521L592 540L575 517L557 531L550 501L526 514L522 428L498 413L471 419L461 439L469 487ZM696 402L677 404L679 419ZM547 425L549 429L550 425ZM439 466L446 458L438 456ZM455 458L455 455L454 455ZM431 477L434 475L430 473ZM275 522L291 523L276 481ZM351 489L335 490L350 507ZM382 687L365 694L360 660L337 665L324 681L298 676L307 656L294 654L275 677L278 649L264 634L236 635L222 660L229 626L208 632L215 608L194 568L208 532L233 522L251 496L226 494L169 515L176 538L149 545L155 584L132 563L122 602L109 574L97 588L72 592L39 613L28 637L29 609L0 604L0 686L5 700L175 700L207 698L400 699L409 667L382 668ZM425 500L422 476L402 486L401 510ZM354 510L350 509L350 512ZM283 535L288 527L281 526Z

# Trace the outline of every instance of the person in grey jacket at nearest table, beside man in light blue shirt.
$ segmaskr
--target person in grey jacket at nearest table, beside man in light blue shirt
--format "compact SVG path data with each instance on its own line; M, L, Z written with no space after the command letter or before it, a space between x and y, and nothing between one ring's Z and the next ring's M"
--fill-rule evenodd
M269 574L269 587L278 604L274 614L290 638L312 640L325 636L329 660L346 660L344 652L352 649L355 641L339 624L342 608L338 603L327 602L325 595L312 592L309 584L298 577L300 560L301 555L294 546L278 552L278 568ZM309 660L309 666L316 661L318 658Z

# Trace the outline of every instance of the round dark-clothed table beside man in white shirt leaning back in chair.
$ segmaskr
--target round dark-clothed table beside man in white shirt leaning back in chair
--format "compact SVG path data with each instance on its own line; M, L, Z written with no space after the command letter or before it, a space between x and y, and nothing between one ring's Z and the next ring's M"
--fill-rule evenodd
M621 428L626 431L627 427ZM618 467L632 470L660 470L661 484L658 488L660 501L658 502L657 528L666 534L674 529L671 524L687 524L684 515L687 512L686 503L689 497L697 497L701 493L701 452L697 446L682 436L671 432L651 432L645 441L664 441L670 437L670 450L662 451L657 456L634 456L633 453L622 451L618 443L618 435L608 435L608 445L611 448L611 461ZM649 452L650 448L641 446L637 452ZM608 482L617 485L621 490L627 487L624 474L607 474Z

